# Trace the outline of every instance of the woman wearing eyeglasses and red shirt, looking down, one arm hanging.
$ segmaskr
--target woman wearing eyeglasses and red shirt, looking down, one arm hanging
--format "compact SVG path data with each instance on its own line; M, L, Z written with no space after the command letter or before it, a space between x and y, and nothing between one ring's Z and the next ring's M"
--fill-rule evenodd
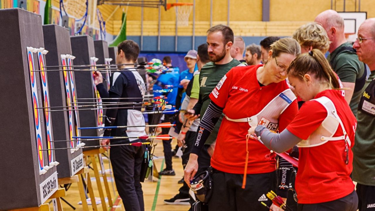
M224 113L211 158L209 210L262 211L267 208L261 202L272 204L265 194L276 189L275 154L261 143L248 141L246 134L249 127L257 125L283 131L294 119L296 96L285 78L288 66L299 54L296 40L280 39L271 45L266 65L232 68L212 91L184 170L184 179L190 184L198 169L199 152Z

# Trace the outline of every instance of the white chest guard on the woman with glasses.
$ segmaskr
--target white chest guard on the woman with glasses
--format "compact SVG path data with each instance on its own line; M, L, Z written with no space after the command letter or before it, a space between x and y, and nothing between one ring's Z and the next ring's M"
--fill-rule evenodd
M279 128L279 116L288 108L288 106L297 99L291 89L286 89L273 98L258 114L241 118L231 119L225 115L225 118L233 122L249 122L251 127L264 125L270 130L276 131Z

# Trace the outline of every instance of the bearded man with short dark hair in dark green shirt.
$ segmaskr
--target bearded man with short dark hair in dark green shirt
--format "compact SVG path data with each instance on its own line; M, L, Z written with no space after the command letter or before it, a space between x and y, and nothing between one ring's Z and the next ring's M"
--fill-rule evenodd
M211 102L209 98L210 93L231 68L235 66L245 66L231 57L230 50L233 42L234 34L232 29L228 26L217 25L208 29L207 44L210 62L202 67L199 74L199 99L194 108L189 110L192 114L186 115L190 120L196 119L199 116L201 118L203 117L208 104ZM219 131L222 118L223 116L221 116L215 125L199 157L196 154L190 154L189 161L184 170L185 178L187 174L190 175L192 173L202 172L210 166L217 132Z

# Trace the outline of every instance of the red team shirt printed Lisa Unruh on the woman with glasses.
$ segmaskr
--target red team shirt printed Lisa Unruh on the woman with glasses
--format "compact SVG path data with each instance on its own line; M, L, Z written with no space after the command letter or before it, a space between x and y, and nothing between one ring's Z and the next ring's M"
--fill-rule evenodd
M259 113L275 96L289 89L287 82L260 86L257 69L262 65L232 68L210 94L212 102L224 108L231 119L251 117ZM284 130L298 112L294 100L279 116L279 130ZM246 158L248 122L233 122L223 118L211 166L227 173L243 174ZM249 174L268 173L276 170L275 153L256 140L249 139Z

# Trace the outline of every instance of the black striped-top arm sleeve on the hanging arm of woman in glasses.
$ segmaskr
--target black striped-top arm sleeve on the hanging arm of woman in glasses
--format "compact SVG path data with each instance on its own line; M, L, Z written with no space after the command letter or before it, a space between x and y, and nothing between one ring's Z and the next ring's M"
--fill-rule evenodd
M219 121L222 113L223 108L211 101L201 119L201 122L199 123L199 127L195 135L195 143L190 153L199 155L199 152L201 152L204 143L206 142L208 136L210 136L216 122Z

